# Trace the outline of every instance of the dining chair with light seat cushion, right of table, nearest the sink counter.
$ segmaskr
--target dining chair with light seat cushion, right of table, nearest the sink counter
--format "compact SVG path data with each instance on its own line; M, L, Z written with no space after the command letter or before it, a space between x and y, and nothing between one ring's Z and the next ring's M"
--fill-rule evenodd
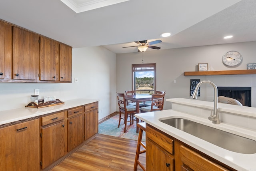
M150 112L163 110L164 107L164 94L152 94L151 105L146 107L140 107L140 112Z

